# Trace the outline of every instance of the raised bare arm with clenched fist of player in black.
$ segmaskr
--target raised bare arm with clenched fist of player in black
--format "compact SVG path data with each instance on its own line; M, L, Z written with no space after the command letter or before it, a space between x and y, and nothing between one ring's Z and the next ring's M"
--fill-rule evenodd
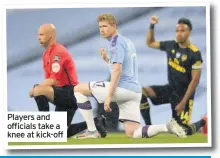
M150 29L147 33L147 41L146 41L146 44L150 48L160 48L160 42L155 41L155 38L154 38L154 25L156 25L158 21L159 21L159 18L157 16L150 17Z

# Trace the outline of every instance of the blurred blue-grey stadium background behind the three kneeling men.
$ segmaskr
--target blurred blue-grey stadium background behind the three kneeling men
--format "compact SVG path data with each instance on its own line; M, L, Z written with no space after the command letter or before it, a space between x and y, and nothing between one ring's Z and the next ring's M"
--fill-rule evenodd
M119 33L130 38L137 49L139 76L143 86L167 83L166 55L145 45L149 17L160 18L156 26L157 40L175 38L175 26L180 17L188 17L193 23L191 41L202 52L204 68L197 88L192 121L207 112L207 65L206 65L206 8L78 8L78 9L10 9L7 10L7 87L8 111L37 111L34 99L28 92L43 80L40 48L37 40L38 27L53 23L57 39L67 46L75 60L80 82L108 78L108 66L99 57L99 49L108 42L98 33L96 23L100 13L111 12L119 21ZM91 98L91 101L95 101ZM94 106L97 109L97 105ZM54 107L51 105L51 109ZM170 105L151 106L152 123L166 123L171 118ZM77 112L73 122L83 121ZM143 123L143 120L141 120ZM121 125L119 124L121 129Z

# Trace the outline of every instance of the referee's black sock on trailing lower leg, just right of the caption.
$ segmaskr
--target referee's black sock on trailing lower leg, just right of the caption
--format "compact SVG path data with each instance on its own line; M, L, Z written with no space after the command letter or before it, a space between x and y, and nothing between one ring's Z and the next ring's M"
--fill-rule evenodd
M86 122L71 124L67 130L67 138L87 129Z

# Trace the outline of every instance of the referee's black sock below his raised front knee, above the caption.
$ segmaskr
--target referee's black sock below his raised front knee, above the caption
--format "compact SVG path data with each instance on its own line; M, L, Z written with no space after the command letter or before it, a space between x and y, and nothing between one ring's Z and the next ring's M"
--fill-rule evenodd
M40 95L40 96L34 97L34 99L37 103L39 111L49 111L50 110L47 97L45 97L44 95Z

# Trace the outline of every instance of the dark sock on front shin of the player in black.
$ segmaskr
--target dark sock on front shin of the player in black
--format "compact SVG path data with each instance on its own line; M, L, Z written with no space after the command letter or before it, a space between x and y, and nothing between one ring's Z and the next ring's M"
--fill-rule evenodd
M144 119L146 125L151 125L150 118L150 105L147 101L147 97L142 94L141 104L140 104L141 115Z

